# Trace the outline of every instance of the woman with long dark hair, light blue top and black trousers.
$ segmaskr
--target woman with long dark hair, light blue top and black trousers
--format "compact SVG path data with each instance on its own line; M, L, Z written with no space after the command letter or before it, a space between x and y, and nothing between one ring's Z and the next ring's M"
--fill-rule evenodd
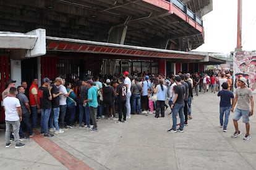
M155 87L154 93L157 94L155 118L159 118L160 113L161 117L164 117L164 102L166 99L167 87L163 86L163 80L160 79L160 84Z

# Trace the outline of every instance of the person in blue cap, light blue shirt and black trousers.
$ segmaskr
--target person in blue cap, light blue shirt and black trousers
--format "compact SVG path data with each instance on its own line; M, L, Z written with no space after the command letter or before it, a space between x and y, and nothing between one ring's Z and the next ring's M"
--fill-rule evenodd
M145 80L142 82L142 113L148 113L148 89L151 89L151 81L149 76L145 75Z

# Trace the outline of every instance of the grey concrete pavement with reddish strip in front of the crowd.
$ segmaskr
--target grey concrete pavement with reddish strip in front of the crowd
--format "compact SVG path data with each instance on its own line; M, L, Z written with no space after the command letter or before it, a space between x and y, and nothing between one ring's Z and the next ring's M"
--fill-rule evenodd
M166 116L160 119L154 118L155 115L133 115L122 124L101 119L98 121L99 132L95 133L85 128L73 128L50 139L38 134L35 139L23 141L24 148L14 148L14 142L5 148L4 131L1 131L0 168L256 169L255 115L250 118L252 139L242 140L245 134L242 120L239 121L242 135L233 139L233 113L229 116L228 132L223 132L219 127L219 102L219 97L211 92L195 96L193 119L184 127L183 133L167 132L172 125L169 108ZM66 152L59 151L62 149ZM78 166L75 160L69 161L67 155L90 168ZM75 168L70 168L70 164Z

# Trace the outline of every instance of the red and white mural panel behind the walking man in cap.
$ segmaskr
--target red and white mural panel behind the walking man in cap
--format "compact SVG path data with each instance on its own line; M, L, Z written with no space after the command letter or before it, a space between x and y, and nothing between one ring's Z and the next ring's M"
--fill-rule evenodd
M256 51L234 52L234 85L236 79L243 76L247 79L247 84L256 93Z

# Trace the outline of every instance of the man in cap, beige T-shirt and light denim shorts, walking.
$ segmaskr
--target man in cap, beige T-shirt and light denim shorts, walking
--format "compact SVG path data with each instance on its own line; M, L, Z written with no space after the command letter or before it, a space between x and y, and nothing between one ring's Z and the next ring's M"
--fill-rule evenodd
M254 114L254 98L252 96L252 90L247 87L247 79L244 77L238 79L238 85L234 97L234 103L232 105L231 111L234 111L233 123L236 132L231 137L237 137L241 135L241 131L238 129L237 121L242 117L242 122L245 123L246 134L244 140L250 139L250 124L249 116ZM234 107L236 109L234 110Z

